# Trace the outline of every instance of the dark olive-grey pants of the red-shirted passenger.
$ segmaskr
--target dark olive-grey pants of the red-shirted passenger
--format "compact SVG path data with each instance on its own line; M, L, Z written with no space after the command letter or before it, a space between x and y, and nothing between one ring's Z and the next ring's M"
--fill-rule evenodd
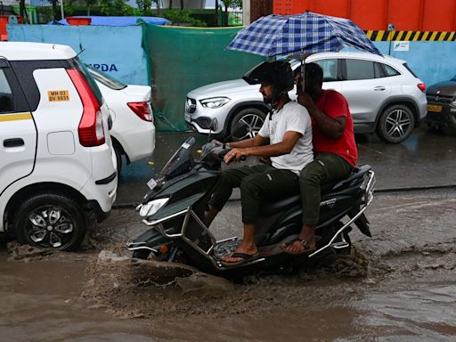
M320 218L321 185L346 178L352 165L336 153L318 153L299 175L303 224L316 225Z

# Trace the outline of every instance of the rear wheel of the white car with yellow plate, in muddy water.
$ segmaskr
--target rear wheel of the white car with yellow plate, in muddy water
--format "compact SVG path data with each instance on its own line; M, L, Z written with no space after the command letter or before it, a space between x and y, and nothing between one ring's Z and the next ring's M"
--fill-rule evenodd
M14 232L21 244L75 250L85 237L85 213L73 199L38 194L20 205Z

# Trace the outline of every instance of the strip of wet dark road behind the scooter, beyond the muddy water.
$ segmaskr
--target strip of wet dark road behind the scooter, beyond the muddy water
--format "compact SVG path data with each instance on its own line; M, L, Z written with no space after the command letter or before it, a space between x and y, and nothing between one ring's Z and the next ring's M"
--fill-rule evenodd
M148 190L147 181L157 177L189 135L197 138L199 146L207 139L199 134L159 134L151 159L124 167L117 204L139 203ZM399 144L380 142L373 134L357 135L356 142L358 164L371 165L377 175L377 190L456 185L456 134L432 134L421 127Z

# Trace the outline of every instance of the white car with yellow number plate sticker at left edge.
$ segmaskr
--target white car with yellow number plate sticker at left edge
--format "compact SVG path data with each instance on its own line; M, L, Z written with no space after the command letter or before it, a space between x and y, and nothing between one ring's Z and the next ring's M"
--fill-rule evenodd
M108 110L65 45L0 43L0 232L76 249L116 198Z

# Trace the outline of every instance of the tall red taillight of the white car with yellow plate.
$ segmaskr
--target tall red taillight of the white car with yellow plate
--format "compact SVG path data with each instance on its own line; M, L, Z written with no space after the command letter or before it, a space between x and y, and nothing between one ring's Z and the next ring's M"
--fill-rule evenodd
M79 142L85 147L100 146L105 141L101 105L81 71L67 69L67 72L84 108L77 128Z

